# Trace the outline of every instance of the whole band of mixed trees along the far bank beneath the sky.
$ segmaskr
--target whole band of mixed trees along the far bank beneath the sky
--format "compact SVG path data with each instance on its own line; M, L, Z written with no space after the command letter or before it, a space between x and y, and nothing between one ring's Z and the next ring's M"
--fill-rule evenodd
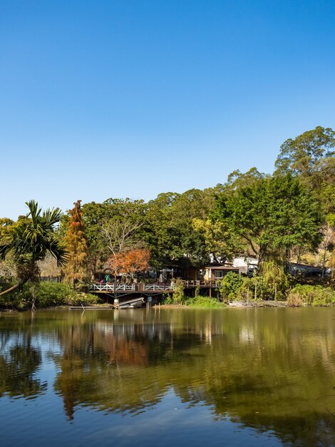
M0 219L0 276L22 283L41 269L57 274L48 253L72 284L98 272L202 268L235 256L258 258L259 273L289 261L334 269L334 147L335 132L318 126L284 141L272 174L234 171L224 184L148 202L77 201L63 215L30 202L27 216Z

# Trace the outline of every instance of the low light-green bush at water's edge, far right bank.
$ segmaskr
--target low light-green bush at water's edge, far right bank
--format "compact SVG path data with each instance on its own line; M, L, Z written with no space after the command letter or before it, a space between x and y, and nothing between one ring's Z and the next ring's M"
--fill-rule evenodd
M332 306L335 304L335 291L331 287L297 284L287 296L289 306Z

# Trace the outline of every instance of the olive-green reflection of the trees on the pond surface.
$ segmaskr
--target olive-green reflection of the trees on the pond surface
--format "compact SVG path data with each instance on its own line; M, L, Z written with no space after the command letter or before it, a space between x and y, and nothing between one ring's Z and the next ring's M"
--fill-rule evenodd
M43 393L44 349L69 420L83 407L136 416L173 390L211 408L213 421L290 446L335 445L329 309L49 312L0 323L0 396Z

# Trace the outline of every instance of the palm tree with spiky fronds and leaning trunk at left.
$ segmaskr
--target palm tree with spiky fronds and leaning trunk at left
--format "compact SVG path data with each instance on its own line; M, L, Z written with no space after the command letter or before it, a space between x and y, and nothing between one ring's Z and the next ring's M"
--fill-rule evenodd
M57 240L54 227L61 219L61 210L47 209L43 211L38 204L31 200L26 202L29 214L21 225L14 231L11 242L0 246L0 257L5 258L8 253L13 253L19 276L19 283L0 293L4 295L22 286L26 281L38 275L37 261L51 253L56 258L58 265L66 262L66 250Z

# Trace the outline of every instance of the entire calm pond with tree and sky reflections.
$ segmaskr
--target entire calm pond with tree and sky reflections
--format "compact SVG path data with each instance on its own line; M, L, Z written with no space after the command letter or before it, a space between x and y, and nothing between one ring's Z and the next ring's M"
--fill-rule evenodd
M335 309L0 314L4 446L335 446Z

